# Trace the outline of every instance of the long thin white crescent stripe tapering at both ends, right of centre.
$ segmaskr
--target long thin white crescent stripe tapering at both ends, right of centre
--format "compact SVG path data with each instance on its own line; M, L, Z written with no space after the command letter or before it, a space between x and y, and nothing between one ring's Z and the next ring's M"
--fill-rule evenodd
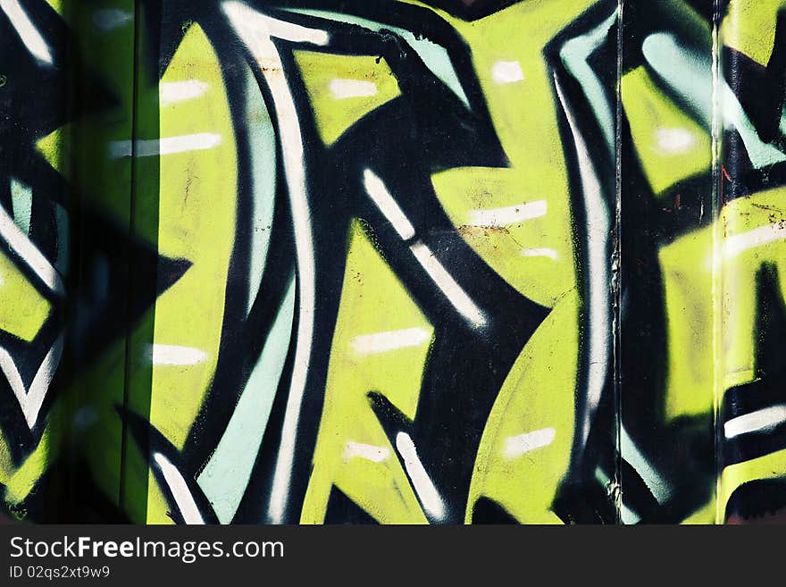
M584 214L587 222L587 275L590 276L588 292L588 353L589 376L587 379L587 410L581 422L582 443L590 435L590 423L598 409L600 395L606 382L607 360L610 350L608 332L611 331L611 294L609 228L610 219L606 212L606 202L600 181L590 159L590 149L578 129L575 118L565 102L562 88L554 76L556 95L571 128L576 155L579 160L579 177L583 191Z

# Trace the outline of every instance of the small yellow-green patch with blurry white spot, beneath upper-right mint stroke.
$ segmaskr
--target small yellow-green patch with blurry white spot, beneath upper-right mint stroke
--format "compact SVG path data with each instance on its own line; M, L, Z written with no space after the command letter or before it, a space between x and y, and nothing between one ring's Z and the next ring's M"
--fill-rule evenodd
M680 180L709 171L709 130L665 96L643 66L626 73L621 87L633 145L656 195Z

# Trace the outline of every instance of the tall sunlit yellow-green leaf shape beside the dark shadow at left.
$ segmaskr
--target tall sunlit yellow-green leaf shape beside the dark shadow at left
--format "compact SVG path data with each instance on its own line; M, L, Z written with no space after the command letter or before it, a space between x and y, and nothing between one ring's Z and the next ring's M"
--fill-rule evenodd
M162 82L202 80L195 99L161 107L161 137L214 133L217 147L160 158L158 249L191 267L155 304L155 344L197 348L195 365L155 365L150 423L181 448L213 380L221 340L224 296L234 242L238 155L221 64L205 33L192 25ZM194 328L198 322L199 327ZM151 494L155 490L151 478ZM167 521L148 504L150 523Z

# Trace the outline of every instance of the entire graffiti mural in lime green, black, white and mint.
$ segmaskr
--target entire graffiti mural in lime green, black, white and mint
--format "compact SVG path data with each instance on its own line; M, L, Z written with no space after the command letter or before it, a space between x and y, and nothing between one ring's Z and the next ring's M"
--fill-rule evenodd
M0 29L6 517L786 519L786 3Z

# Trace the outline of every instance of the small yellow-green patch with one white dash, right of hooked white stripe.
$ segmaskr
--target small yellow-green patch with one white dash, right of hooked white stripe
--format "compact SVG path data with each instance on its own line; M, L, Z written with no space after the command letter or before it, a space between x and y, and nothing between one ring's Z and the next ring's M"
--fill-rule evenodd
M317 130L326 145L334 143L355 122L401 93L388 62L379 56L314 51L295 51L294 55L311 100ZM340 98L330 89L334 80L372 83L376 92L372 96Z

